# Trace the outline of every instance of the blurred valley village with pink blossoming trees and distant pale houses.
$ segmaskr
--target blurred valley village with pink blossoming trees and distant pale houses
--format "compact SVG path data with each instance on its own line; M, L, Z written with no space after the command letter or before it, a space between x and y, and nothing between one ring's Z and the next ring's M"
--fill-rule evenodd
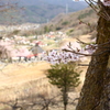
M22 28L23 26L23 28ZM38 28L38 25L36 25ZM21 25L22 30L30 30L36 28L35 25ZM9 30L9 29L8 29ZM16 30L12 26L11 31ZM35 29L34 29L35 30ZM4 31L4 30L3 30ZM64 32L50 32L43 35L20 36L13 35L11 37L0 36L0 45L6 50L6 55L2 55L1 62L36 62L42 58L42 54L51 50L59 50L59 43L63 38L68 37Z

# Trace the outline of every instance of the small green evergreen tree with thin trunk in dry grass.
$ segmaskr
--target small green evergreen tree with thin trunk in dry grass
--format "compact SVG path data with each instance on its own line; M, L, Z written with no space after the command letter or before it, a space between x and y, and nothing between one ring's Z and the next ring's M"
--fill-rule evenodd
M47 70L46 75L52 85L57 86L63 95L64 110L67 110L68 91L77 87L79 81L79 73L76 72L76 64L56 64Z

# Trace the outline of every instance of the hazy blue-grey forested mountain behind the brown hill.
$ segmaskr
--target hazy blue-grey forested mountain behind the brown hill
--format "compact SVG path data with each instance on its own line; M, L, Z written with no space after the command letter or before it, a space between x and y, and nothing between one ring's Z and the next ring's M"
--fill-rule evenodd
M9 10L6 13L0 13L1 24L45 23L57 14L65 13L66 4L68 12L87 8L86 2L74 2L72 0L16 0L16 2L24 10Z

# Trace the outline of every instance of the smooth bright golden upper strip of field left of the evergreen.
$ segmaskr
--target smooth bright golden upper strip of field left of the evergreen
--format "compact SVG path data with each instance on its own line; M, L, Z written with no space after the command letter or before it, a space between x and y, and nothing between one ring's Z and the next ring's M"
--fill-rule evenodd
M0 86L22 84L44 76L43 72L50 65L44 62L36 64L10 64L3 69L3 74L1 74Z

